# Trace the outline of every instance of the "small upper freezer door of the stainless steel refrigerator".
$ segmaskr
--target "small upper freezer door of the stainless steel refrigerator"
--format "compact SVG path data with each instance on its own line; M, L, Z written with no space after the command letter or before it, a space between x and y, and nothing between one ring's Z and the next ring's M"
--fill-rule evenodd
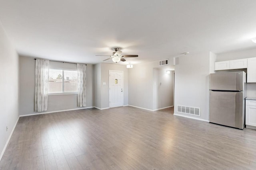
M210 74L210 90L243 91L245 72L221 72Z

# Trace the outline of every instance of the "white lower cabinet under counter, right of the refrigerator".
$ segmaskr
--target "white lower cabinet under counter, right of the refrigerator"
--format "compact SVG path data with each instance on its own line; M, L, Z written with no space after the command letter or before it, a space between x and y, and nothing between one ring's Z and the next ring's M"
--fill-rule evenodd
M246 100L245 125L246 128L256 129L256 100Z

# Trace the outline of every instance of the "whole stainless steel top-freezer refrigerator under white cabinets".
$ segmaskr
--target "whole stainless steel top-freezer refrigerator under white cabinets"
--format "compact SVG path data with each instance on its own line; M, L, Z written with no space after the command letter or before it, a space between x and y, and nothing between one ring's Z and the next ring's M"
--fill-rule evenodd
M244 71L210 74L210 122L244 129L245 97Z

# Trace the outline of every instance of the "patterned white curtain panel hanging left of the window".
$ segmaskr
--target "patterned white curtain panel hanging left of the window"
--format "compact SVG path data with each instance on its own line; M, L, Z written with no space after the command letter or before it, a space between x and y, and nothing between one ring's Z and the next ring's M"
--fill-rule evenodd
M36 111L46 111L48 106L49 60L36 59Z

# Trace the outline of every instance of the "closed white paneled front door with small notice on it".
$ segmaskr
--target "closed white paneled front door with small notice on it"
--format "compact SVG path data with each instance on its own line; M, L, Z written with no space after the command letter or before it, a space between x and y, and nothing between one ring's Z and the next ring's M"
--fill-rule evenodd
M109 70L109 107L123 106L123 91L123 72Z

